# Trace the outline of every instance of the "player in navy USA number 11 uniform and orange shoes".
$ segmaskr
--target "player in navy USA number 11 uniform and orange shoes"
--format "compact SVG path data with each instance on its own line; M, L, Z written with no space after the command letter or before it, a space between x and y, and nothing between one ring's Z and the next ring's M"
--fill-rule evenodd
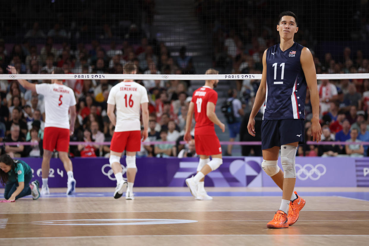
M262 79L247 126L249 134L255 136L257 133L254 118L265 101L261 125L262 168L283 191L280 208L267 224L268 228L287 228L293 225L305 205L305 200L296 192L293 193L293 189L296 181L297 146L304 142L306 86L310 90L313 108L313 141L320 141L321 136L313 56L306 47L293 41L293 36L299 29L296 15L285 11L279 15L278 20L280 44L264 52ZM279 149L284 173L277 166Z

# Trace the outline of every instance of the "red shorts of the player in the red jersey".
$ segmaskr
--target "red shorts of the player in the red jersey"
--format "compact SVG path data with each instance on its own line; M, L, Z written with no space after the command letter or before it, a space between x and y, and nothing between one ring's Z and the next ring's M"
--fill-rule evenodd
M218 155L222 153L222 147L220 146L217 135L196 135L195 134L195 147L197 155Z

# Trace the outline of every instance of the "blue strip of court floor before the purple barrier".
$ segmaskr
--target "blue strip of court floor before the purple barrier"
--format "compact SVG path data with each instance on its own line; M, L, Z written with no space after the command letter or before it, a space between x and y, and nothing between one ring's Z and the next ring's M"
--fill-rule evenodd
M136 197L191 197L189 192L136 192L134 193ZM208 195L212 197L280 197L282 192L271 192L271 191L261 191L261 192L246 192L246 191L221 191L221 192L208 192ZM322 196L322 197L345 197L352 199L359 199L364 201L369 201L368 192L299 192L302 197L309 196ZM4 194L0 194L4 197ZM31 196L29 196L31 197ZM52 198L52 197L113 197L113 192L85 192L85 193L75 193L73 195L66 195L65 193L51 193L50 195L43 196L42 198Z

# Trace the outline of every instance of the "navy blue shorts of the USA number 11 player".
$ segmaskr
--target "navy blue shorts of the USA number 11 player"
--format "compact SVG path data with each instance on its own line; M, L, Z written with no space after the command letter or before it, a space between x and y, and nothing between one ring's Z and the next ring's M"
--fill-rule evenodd
M304 119L263 119L261 148L269 149L289 143L305 141Z

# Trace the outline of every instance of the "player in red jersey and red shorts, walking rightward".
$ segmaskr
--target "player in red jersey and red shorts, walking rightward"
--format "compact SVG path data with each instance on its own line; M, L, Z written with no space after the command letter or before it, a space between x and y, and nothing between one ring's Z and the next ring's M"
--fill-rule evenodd
M216 75L218 73L215 69L208 69L205 74ZM186 179L186 184L197 200L213 199L204 189L204 177L223 163L222 148L214 129L214 124L218 125L222 132L225 129L224 124L220 122L215 114L218 94L214 88L217 87L218 82L217 79L206 80L203 87L195 90L187 112L184 141L189 142L191 140L191 122L193 112L195 112L195 148L196 153L200 155L200 161L197 166L197 174ZM209 156L211 156L211 160Z

